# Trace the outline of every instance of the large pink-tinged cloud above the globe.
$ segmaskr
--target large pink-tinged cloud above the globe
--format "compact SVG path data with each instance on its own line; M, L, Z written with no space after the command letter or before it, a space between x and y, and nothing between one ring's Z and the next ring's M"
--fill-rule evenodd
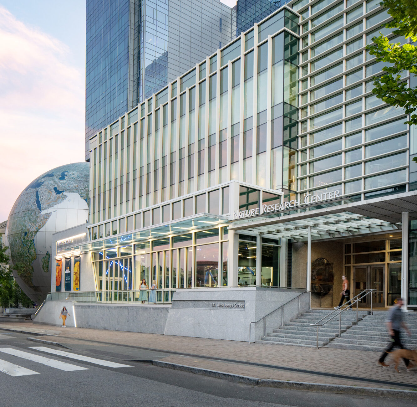
M68 46L1 6L0 43L2 221L35 177L83 161L85 73Z

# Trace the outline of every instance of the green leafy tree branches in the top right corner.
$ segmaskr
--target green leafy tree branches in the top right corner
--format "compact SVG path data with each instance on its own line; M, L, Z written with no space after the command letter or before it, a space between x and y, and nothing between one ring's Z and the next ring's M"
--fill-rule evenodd
M387 8L388 14L393 18L385 24L386 28L394 28L393 33L417 41L417 0L384 0L380 5ZM404 72L409 71L413 79L417 79L417 47L406 43L390 43L389 39L380 33L379 37L372 38L375 45L368 45L371 55L377 61L390 64L385 66L386 74L374 78L372 92L382 101L404 108L410 115L409 125L417 125L417 86L409 87L407 81L402 81Z

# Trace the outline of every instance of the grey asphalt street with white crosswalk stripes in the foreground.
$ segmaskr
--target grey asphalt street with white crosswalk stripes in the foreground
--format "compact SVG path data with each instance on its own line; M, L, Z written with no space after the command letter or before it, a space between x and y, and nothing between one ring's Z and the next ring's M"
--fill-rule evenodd
M163 359L166 353L84 341L63 349L27 341L28 336L0 330L1 406L415 406L389 398L252 387L137 361ZM129 366L97 364L109 362Z

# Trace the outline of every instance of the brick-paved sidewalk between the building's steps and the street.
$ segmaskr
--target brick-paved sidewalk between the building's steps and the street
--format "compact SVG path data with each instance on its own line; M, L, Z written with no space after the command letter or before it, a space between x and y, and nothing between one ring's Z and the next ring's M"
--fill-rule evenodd
M397 373L390 356L386 362L391 366L379 367L377 352L248 344L221 339L86 328L64 329L32 322L0 323L0 329L43 334L37 338L57 342L69 348L71 344L75 344L75 339L81 339L166 351L167 356L158 358L159 361L258 379L417 391L417 368L407 373L402 364L399 367L401 373Z

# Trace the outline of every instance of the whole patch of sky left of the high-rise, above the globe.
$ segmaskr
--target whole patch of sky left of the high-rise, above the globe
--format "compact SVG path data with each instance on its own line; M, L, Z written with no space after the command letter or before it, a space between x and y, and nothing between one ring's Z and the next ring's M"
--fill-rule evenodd
M0 222L44 172L84 161L85 0L0 0Z

